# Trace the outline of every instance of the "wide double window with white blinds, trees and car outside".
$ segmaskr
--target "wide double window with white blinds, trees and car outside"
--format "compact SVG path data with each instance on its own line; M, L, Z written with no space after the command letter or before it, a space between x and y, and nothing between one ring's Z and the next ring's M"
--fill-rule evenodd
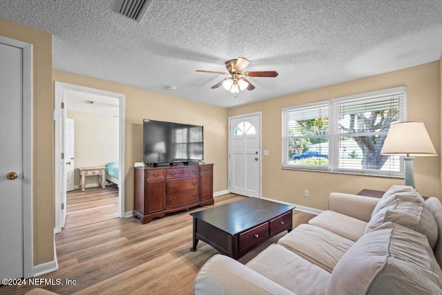
M282 168L403 175L381 155L390 124L405 120L406 87L282 109Z

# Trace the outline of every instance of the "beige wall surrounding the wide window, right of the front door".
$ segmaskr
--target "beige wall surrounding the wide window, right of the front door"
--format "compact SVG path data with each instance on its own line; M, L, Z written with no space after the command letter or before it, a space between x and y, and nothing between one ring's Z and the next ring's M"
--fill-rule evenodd
M414 160L416 188L424 196L441 196L441 72L439 61L391 73L358 79L285 97L229 109L229 116L262 112L262 196L316 209L327 209L332 191L357 193L361 189L388 189L401 179L291 171L281 169L281 108L407 85L407 120L425 123L437 157ZM278 78L276 78L278 79ZM309 189L309 197L303 196Z

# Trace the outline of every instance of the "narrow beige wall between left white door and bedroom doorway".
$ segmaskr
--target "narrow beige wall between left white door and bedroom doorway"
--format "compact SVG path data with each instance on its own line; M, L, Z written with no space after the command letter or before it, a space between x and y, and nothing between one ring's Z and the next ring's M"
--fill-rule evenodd
M32 220L34 265L54 259L52 37L0 19L0 35L32 44Z

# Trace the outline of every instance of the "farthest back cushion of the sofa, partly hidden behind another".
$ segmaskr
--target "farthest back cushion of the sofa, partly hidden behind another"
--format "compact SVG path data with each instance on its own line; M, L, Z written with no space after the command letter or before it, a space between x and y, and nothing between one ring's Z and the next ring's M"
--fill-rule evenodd
M407 185L394 185L390 187L388 191L385 191L381 200L378 202L378 204L376 204L376 207L374 207L372 212L372 217L378 213L378 211L381 211L381 209L396 199L406 202L420 203L423 207L427 207L425 200L423 200L422 196L416 191L416 189L414 189L414 187Z

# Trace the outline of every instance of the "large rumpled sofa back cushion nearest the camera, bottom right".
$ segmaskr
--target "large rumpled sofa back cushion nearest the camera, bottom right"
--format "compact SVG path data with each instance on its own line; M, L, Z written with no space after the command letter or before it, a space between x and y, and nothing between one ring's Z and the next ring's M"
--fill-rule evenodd
M441 294L441 278L427 238L386 222L344 254L325 294Z

